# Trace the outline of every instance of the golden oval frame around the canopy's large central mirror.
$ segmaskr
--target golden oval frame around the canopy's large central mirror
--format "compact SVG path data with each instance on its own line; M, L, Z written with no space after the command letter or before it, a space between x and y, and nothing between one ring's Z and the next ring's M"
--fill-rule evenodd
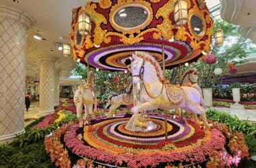
M134 33L139 34L140 30L143 30L152 22L153 11L150 5L151 4L146 1L128 1L125 3L117 3L117 5L115 5L110 11L109 21L111 26L113 26L115 30L122 32L123 34L134 34ZM132 28L125 28L125 27L119 26L119 24L115 22L115 15L117 14L117 12L119 12L121 9L124 9L125 7L140 7L145 11L147 11L148 18L146 19L146 21L143 22L143 24L140 24L139 26L135 26Z

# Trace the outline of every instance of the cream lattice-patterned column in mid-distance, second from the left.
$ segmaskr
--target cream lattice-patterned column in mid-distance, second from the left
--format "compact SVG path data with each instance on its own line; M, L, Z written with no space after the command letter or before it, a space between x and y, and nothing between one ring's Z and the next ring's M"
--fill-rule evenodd
M55 60L40 56L39 112L54 112Z

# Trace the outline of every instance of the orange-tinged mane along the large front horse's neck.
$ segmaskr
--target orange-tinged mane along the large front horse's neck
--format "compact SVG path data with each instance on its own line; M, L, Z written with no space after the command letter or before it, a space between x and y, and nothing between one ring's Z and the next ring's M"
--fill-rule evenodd
M142 52L143 53L143 52ZM137 53L136 56L138 56L139 58L144 58L146 61L150 62L154 68L156 69L156 74L158 76L158 79L161 83L164 82L164 78L163 78L163 74L162 74L162 69L158 63L158 61L154 58L154 56L151 56L150 54L140 54Z

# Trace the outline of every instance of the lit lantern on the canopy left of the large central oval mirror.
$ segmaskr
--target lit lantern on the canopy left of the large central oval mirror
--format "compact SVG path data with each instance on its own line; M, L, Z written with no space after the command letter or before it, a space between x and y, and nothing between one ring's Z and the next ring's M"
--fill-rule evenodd
M82 36L91 32L90 17L85 11L82 11L78 16L78 32Z

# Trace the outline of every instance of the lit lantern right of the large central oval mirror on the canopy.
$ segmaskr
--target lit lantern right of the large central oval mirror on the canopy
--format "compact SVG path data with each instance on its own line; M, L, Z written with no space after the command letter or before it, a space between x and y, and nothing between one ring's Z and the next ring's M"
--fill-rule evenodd
M187 24L187 0L177 0L174 4L174 22L177 26Z

